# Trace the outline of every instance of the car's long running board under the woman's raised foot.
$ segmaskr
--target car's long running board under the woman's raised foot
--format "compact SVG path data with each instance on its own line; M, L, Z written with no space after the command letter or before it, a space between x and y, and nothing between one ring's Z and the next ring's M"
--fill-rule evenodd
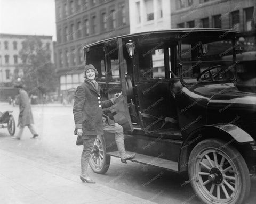
M131 151L126 151L127 154L133 154ZM113 151L113 152L108 152L107 155L114 156L120 158L120 154L118 151ZM178 173L178 162L173 162L167 159L162 159L159 157L152 157L148 155L142 155L142 154L137 154L136 157L133 159L127 159L131 160L132 162L137 162L140 164L146 164L146 165L151 165L151 166L157 166L172 172L177 172Z

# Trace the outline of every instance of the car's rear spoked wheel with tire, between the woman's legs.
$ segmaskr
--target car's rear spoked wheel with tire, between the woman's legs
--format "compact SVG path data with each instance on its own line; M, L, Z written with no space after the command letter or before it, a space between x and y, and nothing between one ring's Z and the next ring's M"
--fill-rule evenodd
M102 136L97 136L89 158L89 164L93 172L103 174L108 171L110 156L106 154L105 142Z

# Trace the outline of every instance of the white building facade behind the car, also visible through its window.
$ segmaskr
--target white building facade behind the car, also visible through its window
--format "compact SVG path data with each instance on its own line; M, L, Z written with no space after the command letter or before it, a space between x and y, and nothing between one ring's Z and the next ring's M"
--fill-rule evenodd
M171 29L171 0L129 0L130 32L148 32ZM164 74L163 49L152 55L153 77Z

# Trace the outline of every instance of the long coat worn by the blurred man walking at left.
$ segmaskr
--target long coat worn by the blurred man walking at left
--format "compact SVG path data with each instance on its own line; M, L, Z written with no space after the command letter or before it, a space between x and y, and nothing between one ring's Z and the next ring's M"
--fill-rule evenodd
M21 127L24 127L29 124L34 124L34 118L31 111L31 106L29 103L29 97L28 93L21 89L19 94L19 100L20 100L20 114L19 114L19 120L18 124Z

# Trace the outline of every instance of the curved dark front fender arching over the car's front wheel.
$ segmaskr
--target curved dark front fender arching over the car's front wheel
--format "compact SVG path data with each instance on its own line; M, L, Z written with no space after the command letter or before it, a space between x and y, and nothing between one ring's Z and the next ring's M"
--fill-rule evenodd
M209 134L209 132L212 134ZM197 143L207 138L213 138L212 135L214 135L214 138L227 141L227 146L231 142L236 142L239 145L242 145L254 141L250 134L234 124L211 124L201 126L188 135L180 148L180 172L187 170L190 152ZM220 137L220 135L225 135L225 137Z

